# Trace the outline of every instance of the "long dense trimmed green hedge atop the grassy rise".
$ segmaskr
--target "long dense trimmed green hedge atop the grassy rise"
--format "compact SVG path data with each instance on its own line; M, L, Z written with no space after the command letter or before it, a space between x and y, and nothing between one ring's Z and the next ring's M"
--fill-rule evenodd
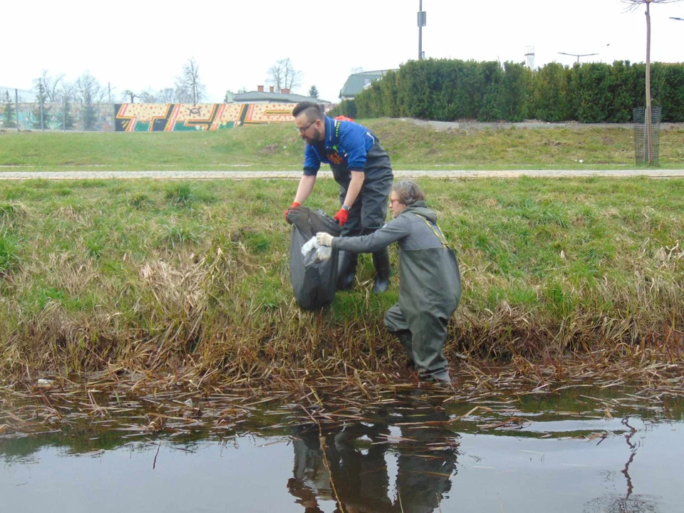
M452 121L626 123L646 104L646 66L629 61L522 63L409 61L333 110L351 118L409 117ZM653 63L651 95L663 122L684 122L684 64ZM352 112L354 111L354 112Z

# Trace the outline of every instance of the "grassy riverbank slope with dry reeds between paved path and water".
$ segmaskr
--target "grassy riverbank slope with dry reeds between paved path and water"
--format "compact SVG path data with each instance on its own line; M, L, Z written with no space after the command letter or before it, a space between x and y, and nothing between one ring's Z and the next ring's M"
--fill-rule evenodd
M460 258L452 361L681 348L684 180L420 183ZM277 381L400 368L383 329L397 276L370 294L369 258L330 309L294 303L282 218L294 187L0 183L2 376L128 368ZM335 197L321 180L309 206L334 212Z

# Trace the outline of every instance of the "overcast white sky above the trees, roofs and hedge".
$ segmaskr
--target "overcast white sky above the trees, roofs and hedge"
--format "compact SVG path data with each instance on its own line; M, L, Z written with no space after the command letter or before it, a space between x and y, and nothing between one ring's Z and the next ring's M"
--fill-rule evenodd
M227 89L256 90L279 58L302 71L306 94L337 101L352 68L397 68L418 56L419 0L39 0L4 2L0 86L31 89L43 68L75 81L84 70L125 89L172 87L194 56L207 102ZM646 60L643 8L619 0L423 0L423 50L430 58L571 64ZM684 61L684 1L651 7L652 61ZM610 46L607 46L607 45ZM266 89L267 90L267 89Z

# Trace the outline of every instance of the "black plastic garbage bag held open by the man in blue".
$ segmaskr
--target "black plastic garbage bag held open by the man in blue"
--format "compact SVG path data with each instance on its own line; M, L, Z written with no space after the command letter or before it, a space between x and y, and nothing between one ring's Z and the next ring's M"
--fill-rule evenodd
M316 259L315 249L305 256L301 254L301 248L318 232L338 237L342 229L335 219L320 209L290 209L287 220L292 223L290 281L294 297L305 310L320 309L335 299L338 252L333 252L329 259L320 261Z

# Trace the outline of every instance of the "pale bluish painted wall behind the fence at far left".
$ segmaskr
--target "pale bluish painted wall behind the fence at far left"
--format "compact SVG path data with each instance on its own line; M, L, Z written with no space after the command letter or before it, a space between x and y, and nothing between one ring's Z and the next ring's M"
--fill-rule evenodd
M111 131L114 130L114 105L87 105L66 99L61 103L21 103L7 95L0 98L0 129L19 132Z

